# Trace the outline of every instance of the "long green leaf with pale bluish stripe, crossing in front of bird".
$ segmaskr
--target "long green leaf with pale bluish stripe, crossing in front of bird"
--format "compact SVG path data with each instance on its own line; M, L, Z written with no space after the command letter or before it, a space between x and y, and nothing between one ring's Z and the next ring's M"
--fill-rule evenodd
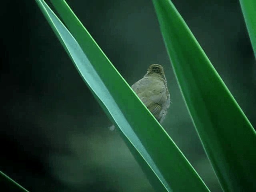
M56 36L158 192L209 191L64 0L52 1L68 29L36 0ZM71 33L72 34L71 34ZM117 146L118 148L118 146Z

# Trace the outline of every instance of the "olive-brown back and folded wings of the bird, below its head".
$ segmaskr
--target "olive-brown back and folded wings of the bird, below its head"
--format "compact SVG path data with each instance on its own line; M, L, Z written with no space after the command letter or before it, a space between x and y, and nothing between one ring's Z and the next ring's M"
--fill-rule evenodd
M132 85L132 89L156 119L160 120L162 105L166 102L168 94L164 82L157 78L152 80L152 78L142 78Z

